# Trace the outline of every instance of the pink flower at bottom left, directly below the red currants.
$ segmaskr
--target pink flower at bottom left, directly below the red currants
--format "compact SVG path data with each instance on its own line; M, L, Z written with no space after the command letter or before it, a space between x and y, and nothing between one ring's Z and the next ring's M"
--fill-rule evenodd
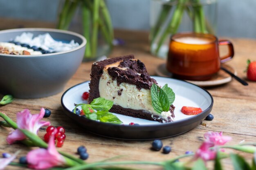
M33 169L48 169L66 163L65 158L56 150L54 135L50 137L47 149L39 148L30 151L27 154L27 162L29 168Z

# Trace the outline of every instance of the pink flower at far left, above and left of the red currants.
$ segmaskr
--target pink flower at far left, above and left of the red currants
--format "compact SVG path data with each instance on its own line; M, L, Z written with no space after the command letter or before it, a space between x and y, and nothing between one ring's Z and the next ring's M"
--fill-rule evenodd
M39 114L31 115L28 109L17 113L17 125L20 129L26 129L34 134L37 134L41 126L49 126L49 121L40 121L45 115L45 109L41 108ZM26 139L26 136L19 130L16 129L9 134L7 137L8 144L12 144L14 141L20 141Z

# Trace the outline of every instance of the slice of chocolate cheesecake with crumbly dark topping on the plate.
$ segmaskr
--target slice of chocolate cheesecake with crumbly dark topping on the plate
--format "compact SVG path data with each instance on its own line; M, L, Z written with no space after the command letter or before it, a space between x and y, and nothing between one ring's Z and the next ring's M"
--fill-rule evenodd
M157 82L133 55L95 62L90 76L89 103L103 97L114 102L110 112L163 123L173 121L173 105L168 112L154 110L150 88Z

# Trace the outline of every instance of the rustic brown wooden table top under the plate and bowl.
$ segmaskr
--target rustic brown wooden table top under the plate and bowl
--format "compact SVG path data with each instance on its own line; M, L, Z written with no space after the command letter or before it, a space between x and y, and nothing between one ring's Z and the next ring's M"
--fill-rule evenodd
M134 31L116 31L116 38L122 38L126 44L117 46L110 57L134 54L136 58L145 63L150 75L155 75L155 69L165 60L154 57L149 52L148 33ZM256 60L256 41L249 39L229 38L234 43L235 57L229 62L237 71L238 76L246 79L244 70L247 59ZM0 111L6 113L11 119L16 120L16 113L28 108L31 113L39 113L41 107L52 110L52 115L45 118L53 126L63 126L66 129L67 139L59 150L75 155L76 148L84 145L88 148L90 158L88 162L100 161L106 158L123 155L118 160L147 160L163 161L184 154L187 150L195 151L203 140L207 131L223 132L224 135L233 138L229 144L238 144L240 141L256 141L256 82L249 82L249 86L243 86L236 80L221 86L207 88L214 99L212 114L213 121L204 120L206 126L198 125L193 130L177 137L163 139L164 145L170 145L172 152L162 154L150 150L152 141L124 141L109 139L94 135L76 126L64 113L61 107L61 95L67 88L90 79L92 62L84 62L78 68L75 75L67 82L65 89L57 95L41 99L15 99L11 104L0 106ZM28 82L29 83L29 82ZM45 128L44 128L45 129ZM19 156L25 155L28 148L22 144L8 145L6 137L9 128L0 127L0 153L14 153L22 150ZM38 135L43 137L45 130L40 130ZM251 156L247 156L251 157ZM224 160L226 169L232 169L229 159ZM208 166L212 166L211 163ZM156 166L135 166L145 169L159 169ZM18 169L8 166L7 169Z

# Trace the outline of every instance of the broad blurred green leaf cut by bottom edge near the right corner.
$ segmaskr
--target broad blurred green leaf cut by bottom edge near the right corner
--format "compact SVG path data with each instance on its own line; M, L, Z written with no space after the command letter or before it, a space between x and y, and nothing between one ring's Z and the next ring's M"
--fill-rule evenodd
M231 153L230 157L235 170L251 170L249 164L240 155Z

